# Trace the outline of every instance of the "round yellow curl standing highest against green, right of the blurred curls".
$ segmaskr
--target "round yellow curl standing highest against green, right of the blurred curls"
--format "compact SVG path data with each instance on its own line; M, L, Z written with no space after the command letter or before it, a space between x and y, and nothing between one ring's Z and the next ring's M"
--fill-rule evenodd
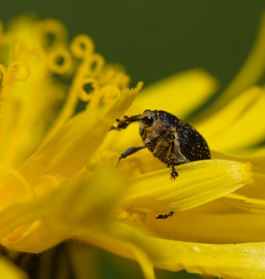
M95 45L93 43L93 40L91 40L89 36L86 36L84 34L76 36L70 45L71 52L78 59L84 59L87 56L91 55L94 49Z

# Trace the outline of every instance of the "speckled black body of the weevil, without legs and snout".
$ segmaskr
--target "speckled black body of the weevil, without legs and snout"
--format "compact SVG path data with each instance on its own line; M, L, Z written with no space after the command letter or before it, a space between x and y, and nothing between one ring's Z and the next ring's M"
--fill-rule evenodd
M151 126L141 121L139 133L153 156L168 167L197 160L210 159L206 141L190 124L162 110L146 110L153 117Z

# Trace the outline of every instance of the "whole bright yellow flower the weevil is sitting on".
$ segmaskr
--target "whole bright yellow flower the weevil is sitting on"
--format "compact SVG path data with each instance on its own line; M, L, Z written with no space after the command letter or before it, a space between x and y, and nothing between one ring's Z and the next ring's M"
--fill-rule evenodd
M154 266L264 278L265 149L253 146L265 137L265 96L252 86L264 69L264 29L263 20L220 102L191 120L212 160L177 167L173 181L146 150L117 168L119 154L141 140L135 125L109 129L146 109L186 119L215 91L213 77L190 70L137 96L142 82L129 89L128 75L105 63L88 36L68 43L60 22L28 17L1 27L1 246L39 253L77 239L137 260L145 278L155 278ZM168 211L180 212L155 218ZM0 274L25 278L3 257Z

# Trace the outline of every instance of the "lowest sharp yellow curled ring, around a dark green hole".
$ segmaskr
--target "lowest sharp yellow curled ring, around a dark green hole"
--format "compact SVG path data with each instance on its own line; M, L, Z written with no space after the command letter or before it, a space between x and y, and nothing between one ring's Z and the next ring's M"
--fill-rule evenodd
M84 86L85 85L90 85L91 90L89 92L85 91ZM98 102L100 101L101 98L101 93L100 93L100 84L98 80L94 77L86 77L83 80L82 86L79 88L79 98L83 100L84 102L89 103L89 107L95 107L98 105Z

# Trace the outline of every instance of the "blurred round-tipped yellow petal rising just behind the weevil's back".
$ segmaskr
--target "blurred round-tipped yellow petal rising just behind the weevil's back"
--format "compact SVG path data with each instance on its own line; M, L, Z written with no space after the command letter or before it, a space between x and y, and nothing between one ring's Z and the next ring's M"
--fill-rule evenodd
M202 105L216 87L217 81L204 70L179 73L143 89L128 113L165 110L184 118Z

